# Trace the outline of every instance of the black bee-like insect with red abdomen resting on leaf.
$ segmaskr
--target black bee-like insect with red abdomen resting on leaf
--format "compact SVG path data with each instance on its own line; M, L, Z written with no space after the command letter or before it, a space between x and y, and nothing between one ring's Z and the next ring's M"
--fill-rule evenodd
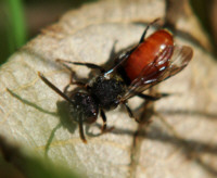
M144 38L153 23L144 29L139 43L125 51L115 59L115 64L107 71L92 63L71 62L58 60L72 72L71 82L64 92L58 89L41 73L39 77L62 98L69 103L69 112L78 123L80 139L87 143L84 134L84 123L92 124L100 114L103 120L102 132L106 131L106 116L104 111L124 104L129 116L133 113L127 104L128 99L139 96L148 100L159 98L143 94L142 91L182 71L192 59L193 51L187 46L174 44L173 35L166 29L156 30ZM100 74L87 84L75 80L73 71L68 66L81 65L91 69L99 69ZM77 90L67 91L71 85L77 85ZM66 94L66 93L69 94Z

